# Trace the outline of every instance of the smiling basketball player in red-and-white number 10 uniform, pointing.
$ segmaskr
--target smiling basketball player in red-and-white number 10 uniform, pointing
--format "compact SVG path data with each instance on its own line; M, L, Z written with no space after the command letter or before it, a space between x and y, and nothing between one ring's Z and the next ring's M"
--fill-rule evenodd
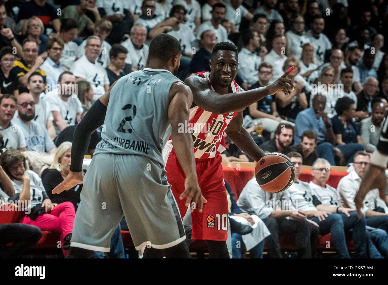
M188 194L184 191L185 174L175 154L174 142L169 140L163 150L167 180L171 184L180 214L183 218L190 206L192 239L206 240L210 258L229 258L226 245L228 203L220 155L225 150L223 132L239 149L259 161L265 154L242 128L242 113L239 111L279 90L288 95L288 91L293 88L291 79L286 78L288 71L269 86L244 91L234 81L237 66L236 46L221 42L213 48L211 71L191 74L185 80L193 93L188 125L193 138L198 183L203 202L206 203L204 206L202 203L189 205L190 195L184 199ZM187 129L182 128L182 131ZM196 207L198 211L194 211ZM151 250L145 249L144 256L157 257L157 250Z

